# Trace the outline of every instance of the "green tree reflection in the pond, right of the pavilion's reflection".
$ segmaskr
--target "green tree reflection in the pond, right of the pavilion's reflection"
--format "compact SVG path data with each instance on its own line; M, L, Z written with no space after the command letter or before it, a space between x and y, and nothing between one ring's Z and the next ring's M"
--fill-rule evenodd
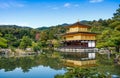
M114 55L108 59L107 55L97 54L97 70L103 73L109 72L111 74L120 75L120 65L116 65L113 61Z

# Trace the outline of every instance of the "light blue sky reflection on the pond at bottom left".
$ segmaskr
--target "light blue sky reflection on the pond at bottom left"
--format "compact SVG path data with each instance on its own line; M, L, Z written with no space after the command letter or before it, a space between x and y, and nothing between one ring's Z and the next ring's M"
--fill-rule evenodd
M0 70L0 78L54 78L56 74L63 74L65 71L55 70L50 67L32 67L29 72L23 72L21 68L12 71Z

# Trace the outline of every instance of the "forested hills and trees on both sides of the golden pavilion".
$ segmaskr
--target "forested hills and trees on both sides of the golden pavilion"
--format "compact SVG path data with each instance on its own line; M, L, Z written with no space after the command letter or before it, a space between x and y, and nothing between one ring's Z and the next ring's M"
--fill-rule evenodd
M116 52L120 48L120 5L113 17L109 19L99 19L93 21L81 21L81 23L91 26L91 31L99 33L97 36L98 48L115 47ZM66 32L65 26L69 24L30 28L17 25L0 25L0 47L1 48L21 48L32 47L39 50L47 47L51 43L54 47L59 47L62 41L62 34Z

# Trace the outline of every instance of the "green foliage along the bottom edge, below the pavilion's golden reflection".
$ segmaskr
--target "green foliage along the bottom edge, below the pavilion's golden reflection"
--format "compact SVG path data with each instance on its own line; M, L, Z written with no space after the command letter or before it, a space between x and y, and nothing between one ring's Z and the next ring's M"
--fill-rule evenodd
M96 68L69 68L64 75L56 75L55 78L110 78L109 75L100 73Z

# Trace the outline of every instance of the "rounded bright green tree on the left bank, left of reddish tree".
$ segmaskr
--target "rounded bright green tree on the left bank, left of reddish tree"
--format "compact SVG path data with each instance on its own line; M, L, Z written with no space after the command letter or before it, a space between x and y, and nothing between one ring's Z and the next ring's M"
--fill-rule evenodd
M20 42L20 48L26 49L28 46L32 45L32 40L28 36L23 36Z

